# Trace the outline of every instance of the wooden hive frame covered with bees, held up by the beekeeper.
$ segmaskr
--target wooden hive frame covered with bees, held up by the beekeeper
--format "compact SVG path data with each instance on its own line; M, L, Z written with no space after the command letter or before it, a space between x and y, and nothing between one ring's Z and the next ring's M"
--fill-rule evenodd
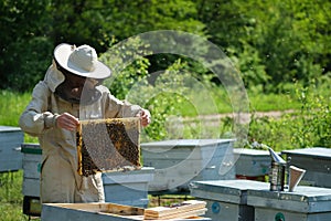
M76 135L78 173L139 169L139 138L137 117L81 120Z

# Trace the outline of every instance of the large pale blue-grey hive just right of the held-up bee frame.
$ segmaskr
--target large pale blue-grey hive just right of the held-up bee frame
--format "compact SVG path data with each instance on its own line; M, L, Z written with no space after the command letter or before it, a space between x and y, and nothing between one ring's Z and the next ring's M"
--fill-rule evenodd
M156 168L149 191L189 192L189 183L235 178L233 139L174 139L141 144L143 166Z

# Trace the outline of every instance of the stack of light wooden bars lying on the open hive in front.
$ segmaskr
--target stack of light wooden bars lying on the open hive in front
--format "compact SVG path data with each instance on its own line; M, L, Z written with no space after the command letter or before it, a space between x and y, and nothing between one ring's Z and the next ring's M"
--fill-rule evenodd
M200 200L189 200L169 207L156 207L145 210L146 220L168 220L179 218L192 218L203 215L206 211L206 202Z

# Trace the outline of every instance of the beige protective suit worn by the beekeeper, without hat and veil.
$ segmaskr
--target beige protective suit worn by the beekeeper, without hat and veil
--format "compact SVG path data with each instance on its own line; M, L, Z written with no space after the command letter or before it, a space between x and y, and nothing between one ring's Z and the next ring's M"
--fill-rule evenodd
M79 119L136 116L141 109L114 97L103 85L102 96L89 105L72 104L54 94L64 75L51 65L45 78L33 90L32 101L20 117L20 127L38 136L43 150L41 170L42 202L104 202L102 173L77 173L76 131L56 128L55 117L70 113Z

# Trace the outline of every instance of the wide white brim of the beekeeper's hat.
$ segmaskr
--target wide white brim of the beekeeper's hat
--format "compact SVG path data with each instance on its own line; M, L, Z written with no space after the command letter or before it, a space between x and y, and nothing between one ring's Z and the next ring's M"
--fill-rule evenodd
M73 45L71 44L62 43L55 48L54 59L60 64L60 66L62 66L63 69L65 69L66 71L73 74L84 76L84 77L89 77L89 78L103 80L110 76L111 74L110 69L99 61L96 62L95 69L90 72L75 66L68 60L71 53L73 52L72 46Z

